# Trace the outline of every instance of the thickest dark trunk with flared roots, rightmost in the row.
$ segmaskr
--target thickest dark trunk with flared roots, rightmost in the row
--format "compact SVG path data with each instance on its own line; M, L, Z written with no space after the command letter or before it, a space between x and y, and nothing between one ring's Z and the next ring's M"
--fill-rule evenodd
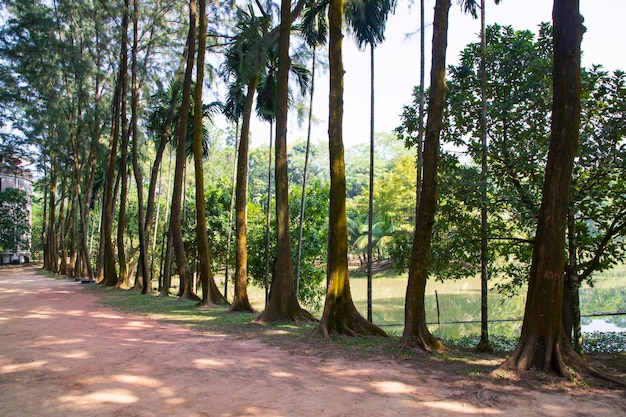
M524 322L517 348L502 368L531 368L569 376L565 358L582 360L564 337L562 300L565 228L580 126L580 43L584 33L579 0L554 0L553 102L550 149L533 247Z

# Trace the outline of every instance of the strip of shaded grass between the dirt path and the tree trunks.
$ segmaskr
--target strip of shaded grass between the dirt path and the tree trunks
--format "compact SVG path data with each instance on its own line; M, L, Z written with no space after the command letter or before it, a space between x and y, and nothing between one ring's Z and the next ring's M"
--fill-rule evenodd
M180 300L177 297L146 296L136 291L105 288L99 285L86 285L85 291L97 297L102 305L115 310L139 316L147 316L162 322L188 327L198 332L226 334L235 339L258 340L268 345L279 347L291 354L307 355L322 360L342 357L348 360L392 360L407 363L418 369L442 371L460 378L489 378L491 372L500 365L508 352L517 344L516 339L492 337L496 353L475 353L473 348L478 343L478 336L464 337L457 340L443 340L449 350L443 353L426 355L420 349L400 349L399 335L390 337L345 337L331 335L328 340L319 335L312 336L316 323L272 323L268 325L252 324L255 317L251 313L227 313L226 307L197 307L196 303ZM606 334L605 334L606 336ZM622 339L616 339L621 337ZM626 355L624 353L602 354L606 351L599 346L626 346L626 335L616 334L596 338L595 347L588 351L598 355L601 363L612 363L607 370L624 377ZM608 341L607 341L608 340ZM590 350L591 349L591 350ZM614 365L614 366L613 366Z

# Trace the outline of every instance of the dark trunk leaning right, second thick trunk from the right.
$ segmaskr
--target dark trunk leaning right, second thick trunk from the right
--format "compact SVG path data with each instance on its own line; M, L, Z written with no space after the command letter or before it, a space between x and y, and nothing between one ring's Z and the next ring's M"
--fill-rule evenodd
M427 351L443 350L444 346L426 325L425 291L432 231L437 210L437 164L439 136L443 127L446 86L446 49L448 45L448 11L450 0L437 0L433 21L432 64L426 138L424 141L424 172L413 236L409 280L404 308L402 347L419 346Z

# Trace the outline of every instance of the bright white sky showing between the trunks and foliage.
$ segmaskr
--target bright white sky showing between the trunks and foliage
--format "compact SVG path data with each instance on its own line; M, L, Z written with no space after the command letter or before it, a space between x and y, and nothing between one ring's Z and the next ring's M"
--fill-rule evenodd
M392 132L400 123L402 106L411 102L413 87L419 83L419 4L399 0L396 13L387 22L386 40L375 50L375 131ZM431 24L434 0L426 0L426 85L429 80ZM601 64L607 70L626 70L625 0L580 0L586 32L582 41L582 65ZM487 25L511 25L517 30L537 33L539 23L551 22L550 0L502 0L499 5L487 0ZM458 64L459 53L468 43L478 42L480 20L464 15L457 0L449 14L446 65ZM412 36L410 34L413 34ZM359 51L350 35L343 43L344 53L344 128L346 146L369 143L370 53ZM314 142L328 140L328 72L318 70L314 95ZM306 126L298 126L290 114L289 141L306 139ZM260 122L252 126L252 146L266 145L269 127Z

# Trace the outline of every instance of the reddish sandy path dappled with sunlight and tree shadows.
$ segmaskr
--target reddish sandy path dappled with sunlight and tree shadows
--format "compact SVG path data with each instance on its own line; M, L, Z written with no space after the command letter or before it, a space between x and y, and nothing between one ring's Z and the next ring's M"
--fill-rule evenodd
M0 416L626 416L623 391L287 353L126 316L0 269Z

